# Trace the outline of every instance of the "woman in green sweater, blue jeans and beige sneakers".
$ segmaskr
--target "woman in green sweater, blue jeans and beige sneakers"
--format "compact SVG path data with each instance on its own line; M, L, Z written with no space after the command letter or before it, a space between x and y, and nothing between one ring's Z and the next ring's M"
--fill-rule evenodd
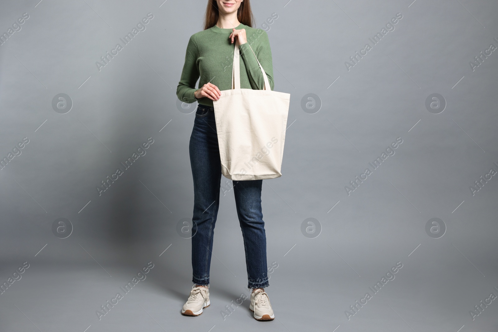
M185 64L176 94L184 103L199 105L190 136L189 154L194 180L192 218L192 290L182 308L183 315L199 316L209 301L209 268L213 235L220 201L221 163L213 101L232 89L235 42L242 51L242 89L264 89L263 67L273 90L273 67L268 35L253 28L249 0L208 0L204 30L188 42ZM250 47L249 47L250 43ZM254 51L254 53L251 51ZM199 80L200 88L195 89ZM258 321L274 319L268 294L266 234L261 212L262 180L235 181L233 189L242 229L248 288L252 289L249 309Z

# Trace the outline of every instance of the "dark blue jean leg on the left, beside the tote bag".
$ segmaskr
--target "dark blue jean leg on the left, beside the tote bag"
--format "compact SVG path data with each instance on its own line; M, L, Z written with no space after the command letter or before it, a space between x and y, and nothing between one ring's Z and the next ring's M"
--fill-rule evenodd
M208 285L222 175L214 111L208 107L197 109L189 155L194 182L192 282Z

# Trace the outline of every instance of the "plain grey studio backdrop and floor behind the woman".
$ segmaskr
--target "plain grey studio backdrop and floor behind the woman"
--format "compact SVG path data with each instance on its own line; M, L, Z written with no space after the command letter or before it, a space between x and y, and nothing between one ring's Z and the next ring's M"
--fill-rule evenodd
M469 313L498 295L497 177L469 189L498 170L498 51L475 71L469 64L498 46L492 0L252 1L258 27L278 14L267 31L274 90L291 94L283 175L262 193L276 319L256 322L248 301L221 314L248 293L232 191L221 194L211 306L180 315L192 270L176 225L192 217L194 113L178 110L176 86L205 5L1 1L2 33L29 19L0 46L0 156L29 143L0 171L0 280L30 267L0 295L0 330L498 331L498 300L474 321ZM148 12L146 30L99 72L95 62ZM65 114L51 106L60 93L73 102ZM322 103L314 114L301 108L308 93ZM425 107L434 93L447 104L439 114ZM148 137L146 154L99 196ZM344 187L397 137L395 154L348 196ZM52 233L58 218L74 227L65 239ZM321 227L314 238L301 232L307 218ZM444 236L426 233L432 218ZM147 278L99 321L96 310L149 261ZM348 320L396 262L395 279Z

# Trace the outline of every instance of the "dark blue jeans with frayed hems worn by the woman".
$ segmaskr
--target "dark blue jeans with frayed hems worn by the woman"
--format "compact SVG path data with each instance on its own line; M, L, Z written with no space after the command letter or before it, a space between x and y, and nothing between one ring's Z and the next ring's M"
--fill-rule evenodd
M198 105L190 136L189 154L194 179L192 282L208 285L222 177L213 107ZM248 288L268 287L266 233L261 212L262 182L263 180L232 181L246 251Z

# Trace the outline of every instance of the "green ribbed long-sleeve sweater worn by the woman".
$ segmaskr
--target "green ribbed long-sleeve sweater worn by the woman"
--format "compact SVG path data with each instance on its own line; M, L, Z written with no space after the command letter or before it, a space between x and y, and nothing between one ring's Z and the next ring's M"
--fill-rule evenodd
M270 88L273 90L273 65L268 34L262 29L251 28L240 24L236 29L246 29L247 43L239 46L241 49L241 89L263 90L263 73L257 60L264 69ZM194 92L208 82L216 85L220 91L232 89L232 65L234 61L235 40L232 44L228 36L232 29L222 29L214 25L209 29L194 33L187 45L185 64L176 95L185 103L213 106L213 101L207 97L197 99ZM254 57L249 45L257 56ZM199 79L199 85L195 83ZM223 94L221 96L223 98Z

